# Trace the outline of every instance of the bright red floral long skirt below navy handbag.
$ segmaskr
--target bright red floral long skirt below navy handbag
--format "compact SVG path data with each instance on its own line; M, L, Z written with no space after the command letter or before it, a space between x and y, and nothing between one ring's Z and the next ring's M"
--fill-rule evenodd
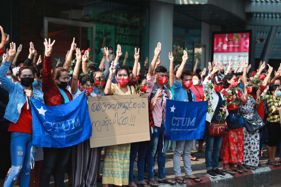
M222 164L241 164L244 159L243 128L229 129L229 134L222 138L220 155Z

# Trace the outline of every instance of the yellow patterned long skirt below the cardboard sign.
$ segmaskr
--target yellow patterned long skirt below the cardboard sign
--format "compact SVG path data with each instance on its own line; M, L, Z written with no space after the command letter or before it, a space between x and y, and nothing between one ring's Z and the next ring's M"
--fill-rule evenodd
M130 151L131 143L104 148L103 184L117 186L129 184Z

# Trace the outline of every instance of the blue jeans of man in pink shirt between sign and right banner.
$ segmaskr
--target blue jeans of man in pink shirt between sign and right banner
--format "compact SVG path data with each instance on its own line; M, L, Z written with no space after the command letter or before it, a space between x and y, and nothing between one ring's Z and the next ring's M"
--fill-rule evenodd
M162 136L163 132L164 132L164 127L155 126L155 129L152 134L152 139L150 139L150 145L148 149L148 159L147 159L148 179L154 178L154 172L153 172L154 163L155 163L154 156L157 150L157 146L159 146L158 155L157 155L158 174L159 174L158 179L163 179L166 177L165 156L169 145L169 140Z

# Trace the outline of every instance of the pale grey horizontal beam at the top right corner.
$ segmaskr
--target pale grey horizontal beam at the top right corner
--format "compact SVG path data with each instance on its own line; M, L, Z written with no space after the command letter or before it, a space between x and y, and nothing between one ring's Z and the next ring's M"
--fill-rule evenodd
M246 13L281 13L280 3L245 2Z

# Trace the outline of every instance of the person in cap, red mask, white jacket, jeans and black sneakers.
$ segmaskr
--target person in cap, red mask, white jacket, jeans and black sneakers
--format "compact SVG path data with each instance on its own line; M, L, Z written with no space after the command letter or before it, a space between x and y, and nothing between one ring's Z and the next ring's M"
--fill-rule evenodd
M206 175L216 178L216 175L219 176L225 176L224 173L222 173L218 169L218 160L220 155L220 147L222 145L222 136L220 137L214 137L210 136L208 131L208 126L210 124L218 124L220 121L219 113L224 111L225 115L228 115L228 111L226 109L225 105L222 105L222 101L225 100L225 96L221 93L223 86L222 86L222 78L220 76L215 76L215 73L218 70L219 63L216 63L213 67L213 71L204 79L203 82L203 89L205 92L209 91L209 93L212 94L212 97L210 98L211 107L213 109L213 113L210 114L207 112L206 115L206 126L205 126L205 140L206 140L206 149L205 149L205 159L206 159ZM210 79L210 77L213 77ZM208 83L209 81L212 83L213 89L208 90ZM225 122L221 122L222 125L225 124Z

